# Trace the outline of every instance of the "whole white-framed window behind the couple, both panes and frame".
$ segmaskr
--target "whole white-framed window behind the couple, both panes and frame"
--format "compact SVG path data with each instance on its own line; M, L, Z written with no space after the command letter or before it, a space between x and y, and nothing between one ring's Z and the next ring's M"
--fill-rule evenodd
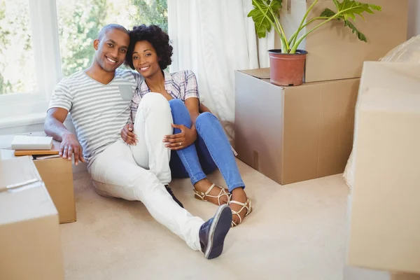
M92 63L104 25L167 22L167 0L0 0L0 130L43 122L57 82Z

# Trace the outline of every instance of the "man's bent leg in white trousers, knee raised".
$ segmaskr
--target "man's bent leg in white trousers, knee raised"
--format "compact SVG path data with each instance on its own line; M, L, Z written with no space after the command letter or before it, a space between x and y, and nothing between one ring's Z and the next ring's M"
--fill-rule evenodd
M139 104L134 133L139 142L130 146L137 165L150 169L164 185L171 182L169 160L171 150L165 147L163 137L172 134L172 114L162 94L148 92Z

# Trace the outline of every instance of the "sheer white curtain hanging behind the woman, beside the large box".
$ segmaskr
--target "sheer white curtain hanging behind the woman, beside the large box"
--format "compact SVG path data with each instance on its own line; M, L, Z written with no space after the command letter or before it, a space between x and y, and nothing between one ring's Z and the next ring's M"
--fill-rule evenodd
M170 70L190 69L196 74L200 98L221 120L231 141L235 70L258 68L259 59L267 66L267 49L274 48L274 36L272 42L257 43L253 20L246 17L251 9L251 0L168 0L174 47Z

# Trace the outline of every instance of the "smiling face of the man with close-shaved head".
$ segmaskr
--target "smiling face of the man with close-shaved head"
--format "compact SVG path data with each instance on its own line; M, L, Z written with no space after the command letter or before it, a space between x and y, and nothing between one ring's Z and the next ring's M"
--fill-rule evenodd
M106 32L101 41L96 39L93 43L95 60L107 72L116 71L123 64L130 44L130 36L118 29Z

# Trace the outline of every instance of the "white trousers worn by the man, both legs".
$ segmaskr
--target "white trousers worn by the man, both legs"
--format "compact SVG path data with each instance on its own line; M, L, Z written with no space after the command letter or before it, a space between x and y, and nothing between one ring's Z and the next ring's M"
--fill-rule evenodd
M170 150L162 140L164 135L172 134L171 123L167 99L149 92L141 99L137 111L134 126L139 139L137 146L130 147L120 139L97 156L89 172L99 195L143 202L156 221L198 251L201 249L198 233L204 221L179 207L164 186L169 183L171 172Z

